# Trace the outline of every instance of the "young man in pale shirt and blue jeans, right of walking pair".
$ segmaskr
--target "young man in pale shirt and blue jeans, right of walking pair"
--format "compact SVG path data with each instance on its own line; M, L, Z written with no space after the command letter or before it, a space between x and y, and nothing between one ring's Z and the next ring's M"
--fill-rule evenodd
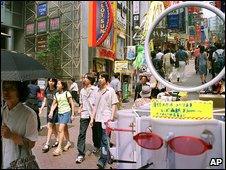
M90 126L93 125L95 119L96 122L102 124L101 135L101 156L98 160L97 166L104 168L109 159L109 137L106 133L106 122L114 120L116 113L116 104L118 103L117 95L112 87L108 85L109 75L107 73L101 73L99 76L99 89L97 91L97 97L94 107L94 114L91 117Z

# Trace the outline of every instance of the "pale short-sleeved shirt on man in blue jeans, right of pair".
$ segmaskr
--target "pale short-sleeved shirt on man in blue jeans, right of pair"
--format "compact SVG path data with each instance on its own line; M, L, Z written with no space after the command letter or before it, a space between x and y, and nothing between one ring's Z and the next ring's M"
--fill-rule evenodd
M104 122L111 119L112 115L112 105L118 103L118 98L115 90L108 86L106 89L98 89L96 95L96 122L102 122L102 128L105 129Z

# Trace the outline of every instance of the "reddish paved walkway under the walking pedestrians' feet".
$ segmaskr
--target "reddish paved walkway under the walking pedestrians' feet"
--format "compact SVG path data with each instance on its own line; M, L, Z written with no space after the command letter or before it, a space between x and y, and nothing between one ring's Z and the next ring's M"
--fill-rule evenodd
M133 104L133 99L129 99L130 102L123 103L123 109L131 108ZM87 130L87 137L86 137L86 157L85 160L81 164L76 164L75 159L78 155L77 151L77 138L79 134L79 116L76 116L75 120L72 124L69 125L69 134L70 140L72 141L72 147L67 151L63 152L60 156L53 156L52 152L55 148L51 148L49 152L42 153L42 148L46 141L46 134L47 134L47 127L46 127L46 108L44 108L43 113L40 115L41 124L42 124L42 131L39 132L38 141L36 142L35 147L33 148L33 153L36 156L37 162L41 169L98 169L96 166L97 160L99 159L98 155L94 155L91 153L93 148L92 143L92 130L89 127ZM52 136L52 138L54 138ZM112 134L111 141L115 143L115 135ZM51 141L52 143L54 141ZM50 143L50 145L52 145ZM63 145L64 146L64 145ZM107 165L106 169L110 167L114 168L113 165Z

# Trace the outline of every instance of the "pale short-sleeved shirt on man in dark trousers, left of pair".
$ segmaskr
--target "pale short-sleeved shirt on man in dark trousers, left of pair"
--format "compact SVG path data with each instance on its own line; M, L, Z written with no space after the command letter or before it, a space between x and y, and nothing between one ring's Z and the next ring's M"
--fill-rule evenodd
M79 102L82 104L81 118L87 119L92 114L97 89L95 86L82 88L79 98Z

